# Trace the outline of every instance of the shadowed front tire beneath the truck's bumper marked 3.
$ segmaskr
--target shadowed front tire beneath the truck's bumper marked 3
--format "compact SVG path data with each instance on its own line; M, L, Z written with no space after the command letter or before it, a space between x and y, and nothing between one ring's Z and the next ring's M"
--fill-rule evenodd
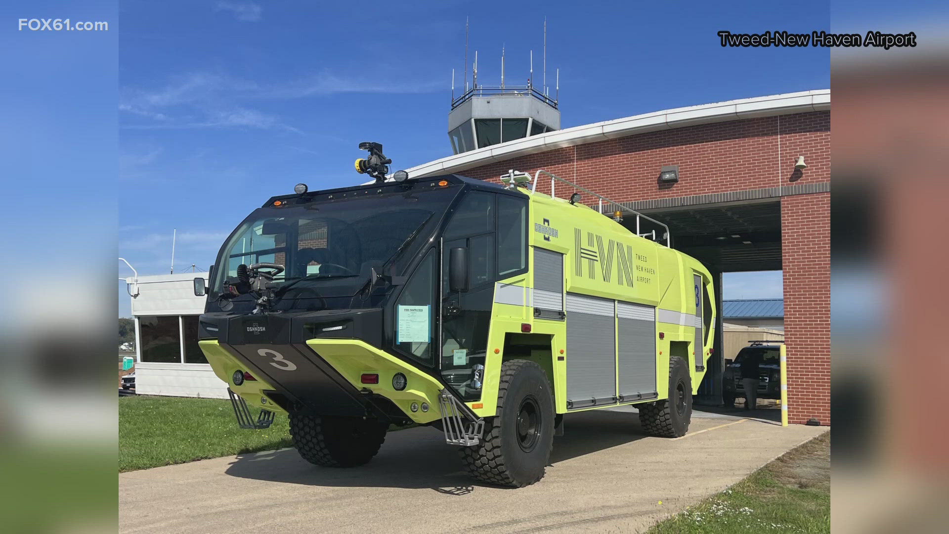
M387 426L361 417L327 417L290 413L293 447L310 464L362 466L379 452Z

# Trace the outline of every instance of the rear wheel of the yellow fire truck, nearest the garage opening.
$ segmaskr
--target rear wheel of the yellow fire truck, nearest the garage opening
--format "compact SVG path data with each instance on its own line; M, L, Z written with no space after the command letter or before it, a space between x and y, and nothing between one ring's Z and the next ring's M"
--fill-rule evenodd
M637 405L640 425L652 436L678 438L689 431L692 420L692 379L685 360L669 358L669 398Z

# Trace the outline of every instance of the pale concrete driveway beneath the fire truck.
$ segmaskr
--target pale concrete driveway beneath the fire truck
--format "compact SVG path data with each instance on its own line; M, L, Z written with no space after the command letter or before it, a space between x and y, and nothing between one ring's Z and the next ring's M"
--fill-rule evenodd
M635 532L827 430L696 412L670 440L644 436L632 409L570 414L566 429L547 476L520 489L474 483L430 428L388 434L350 469L283 449L121 473L120 531Z

